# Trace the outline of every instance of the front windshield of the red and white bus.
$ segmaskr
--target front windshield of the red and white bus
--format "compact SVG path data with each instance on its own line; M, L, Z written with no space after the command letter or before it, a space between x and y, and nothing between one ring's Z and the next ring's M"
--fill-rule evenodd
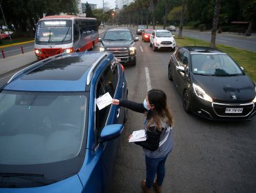
M39 21L35 41L37 43L71 43L72 21L52 20Z

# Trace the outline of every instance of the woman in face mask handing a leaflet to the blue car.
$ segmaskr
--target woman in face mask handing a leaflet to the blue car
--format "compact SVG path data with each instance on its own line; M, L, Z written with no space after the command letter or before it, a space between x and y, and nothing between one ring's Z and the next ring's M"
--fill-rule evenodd
M141 182L144 192L149 192L152 185L156 192L161 192L165 177L165 161L172 151L172 114L167 108L166 94L162 90L149 90L143 103L126 99L113 99L114 105L120 105L135 112L146 113L146 141L135 142L145 152L146 179ZM129 136L130 138L131 136ZM155 179L156 176L156 180Z

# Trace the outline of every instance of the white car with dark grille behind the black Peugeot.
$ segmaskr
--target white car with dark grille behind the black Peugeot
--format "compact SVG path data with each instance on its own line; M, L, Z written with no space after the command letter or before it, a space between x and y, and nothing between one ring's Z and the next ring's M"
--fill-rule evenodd
M153 50L175 50L176 42L174 40L174 35L168 30L154 30L150 35L149 46L153 46Z

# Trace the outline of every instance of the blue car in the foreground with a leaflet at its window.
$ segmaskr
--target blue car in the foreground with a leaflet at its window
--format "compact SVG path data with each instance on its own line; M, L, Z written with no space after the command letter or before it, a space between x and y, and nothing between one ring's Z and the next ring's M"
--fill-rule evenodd
M0 90L0 192L109 192L127 109L122 65L75 52L17 72Z

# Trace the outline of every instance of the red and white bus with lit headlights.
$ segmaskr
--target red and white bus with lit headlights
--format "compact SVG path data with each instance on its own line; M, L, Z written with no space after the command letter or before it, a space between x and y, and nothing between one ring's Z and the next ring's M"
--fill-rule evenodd
M92 50L98 38L95 18L74 15L43 17L35 32L35 55L37 59L46 59L63 52Z

